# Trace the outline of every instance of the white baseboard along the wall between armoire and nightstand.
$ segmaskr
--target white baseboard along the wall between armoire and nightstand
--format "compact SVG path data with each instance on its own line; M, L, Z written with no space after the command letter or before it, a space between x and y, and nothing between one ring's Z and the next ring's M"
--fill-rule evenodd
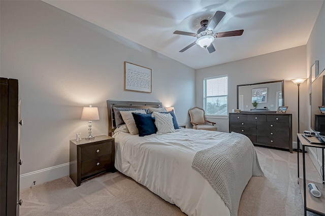
M69 164L70 163L64 163L20 175L20 190L69 175Z

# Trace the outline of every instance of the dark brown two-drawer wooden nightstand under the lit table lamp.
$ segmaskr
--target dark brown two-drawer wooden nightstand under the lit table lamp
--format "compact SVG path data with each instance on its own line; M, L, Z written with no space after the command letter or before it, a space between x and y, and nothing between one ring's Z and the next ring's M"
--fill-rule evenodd
M114 148L114 138L107 135L70 140L70 178L76 186L95 174L115 171Z

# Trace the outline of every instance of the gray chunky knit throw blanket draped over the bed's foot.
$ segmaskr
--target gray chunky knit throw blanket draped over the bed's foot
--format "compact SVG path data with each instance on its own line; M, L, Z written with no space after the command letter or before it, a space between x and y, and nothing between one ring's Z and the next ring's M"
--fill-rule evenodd
M250 139L234 132L217 145L197 152L192 167L208 180L233 216L238 214L247 184L242 176L250 172L253 176L264 176Z

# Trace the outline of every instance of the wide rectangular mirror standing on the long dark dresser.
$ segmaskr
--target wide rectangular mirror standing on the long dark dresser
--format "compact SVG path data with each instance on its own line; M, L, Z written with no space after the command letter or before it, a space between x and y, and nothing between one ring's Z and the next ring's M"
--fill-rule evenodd
M237 85L237 109L241 112L276 113L283 105L284 80Z

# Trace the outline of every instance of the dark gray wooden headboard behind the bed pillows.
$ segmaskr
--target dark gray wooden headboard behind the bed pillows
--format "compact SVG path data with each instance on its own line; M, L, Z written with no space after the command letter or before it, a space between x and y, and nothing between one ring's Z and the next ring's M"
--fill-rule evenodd
M108 135L112 136L115 130L116 124L114 119L113 107L126 107L147 109L149 107L159 108L163 107L161 102L141 102L141 101L120 101L120 100L107 100L107 116L108 116Z

